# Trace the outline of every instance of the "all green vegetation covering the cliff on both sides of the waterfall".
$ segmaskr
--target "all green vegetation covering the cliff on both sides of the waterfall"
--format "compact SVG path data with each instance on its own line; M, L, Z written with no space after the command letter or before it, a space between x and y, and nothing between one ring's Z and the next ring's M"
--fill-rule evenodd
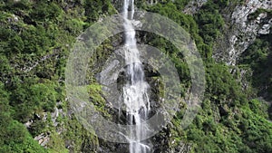
M87 131L68 110L65 100L64 68L69 49L89 25L116 10L110 0L0 2L0 152L95 152L100 140ZM162 14L180 24L196 42L206 68L206 92L199 114L188 129L180 129L184 110L170 126L171 148L180 142L191 144L191 152L272 152L272 124L267 121L271 107L271 33L259 37L241 56L239 68L253 72L248 88L242 89L234 67L214 62L213 46L226 24L222 8L242 1L209 0L194 15L183 14L189 0L161 0L156 5L137 1L141 9ZM258 10L252 17L264 10ZM189 69L180 51L167 40L146 33L143 42L160 48L175 63L186 94L190 86ZM114 38L113 38L114 39ZM92 57L91 66L112 52L107 40ZM92 65L93 64L93 65ZM95 83L92 70L87 80L90 98L102 115L111 118ZM55 108L63 110L54 125ZM47 118L44 119L44 116ZM272 115L270 114L270 119ZM26 121L33 120L30 128ZM34 137L46 133L47 148ZM105 142L103 142L105 143ZM68 150L69 148L69 150Z

